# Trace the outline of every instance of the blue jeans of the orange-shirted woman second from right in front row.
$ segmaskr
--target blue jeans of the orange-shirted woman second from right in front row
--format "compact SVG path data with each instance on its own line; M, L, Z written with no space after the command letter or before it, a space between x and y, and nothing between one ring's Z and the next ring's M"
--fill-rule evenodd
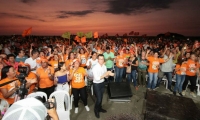
M185 75L176 74L176 85L174 87L174 92L178 89L178 92L182 92L183 82L185 81Z

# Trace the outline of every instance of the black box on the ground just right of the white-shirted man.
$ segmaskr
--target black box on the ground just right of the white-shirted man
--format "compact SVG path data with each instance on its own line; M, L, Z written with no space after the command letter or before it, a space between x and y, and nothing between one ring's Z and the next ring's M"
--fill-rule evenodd
M130 83L112 82L108 83L108 95L110 99L132 97Z

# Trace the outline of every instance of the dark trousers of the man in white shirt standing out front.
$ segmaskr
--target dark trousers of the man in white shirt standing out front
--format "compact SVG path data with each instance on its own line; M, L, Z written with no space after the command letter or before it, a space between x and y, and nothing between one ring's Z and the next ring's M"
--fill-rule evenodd
M102 109L102 99L104 93L105 84L103 83L93 83L94 95L96 97L94 110L99 112Z

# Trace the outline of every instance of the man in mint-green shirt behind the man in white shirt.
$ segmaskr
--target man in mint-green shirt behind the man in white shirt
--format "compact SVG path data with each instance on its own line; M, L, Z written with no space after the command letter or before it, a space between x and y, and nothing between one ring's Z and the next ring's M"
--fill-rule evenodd
M105 65L106 65L107 71L112 71L115 55L113 52L110 52L110 47L106 47L106 52L103 55L105 58L105 62L106 62ZM114 80L114 78L110 76L110 77L108 77L107 80L108 80L107 82L111 82Z

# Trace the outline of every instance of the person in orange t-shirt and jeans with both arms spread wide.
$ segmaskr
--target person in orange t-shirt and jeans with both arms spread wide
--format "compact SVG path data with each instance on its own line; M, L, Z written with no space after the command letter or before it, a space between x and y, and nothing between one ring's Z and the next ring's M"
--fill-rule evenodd
M155 86L157 84L157 77L158 77L158 69L160 67L160 63L167 62L168 60L171 59L172 55L170 54L169 58L162 59L158 57L158 52L154 52L153 57L148 57L148 54L150 53L151 50L147 50L146 53L146 59L149 61L149 80L148 80L148 89L155 89Z

